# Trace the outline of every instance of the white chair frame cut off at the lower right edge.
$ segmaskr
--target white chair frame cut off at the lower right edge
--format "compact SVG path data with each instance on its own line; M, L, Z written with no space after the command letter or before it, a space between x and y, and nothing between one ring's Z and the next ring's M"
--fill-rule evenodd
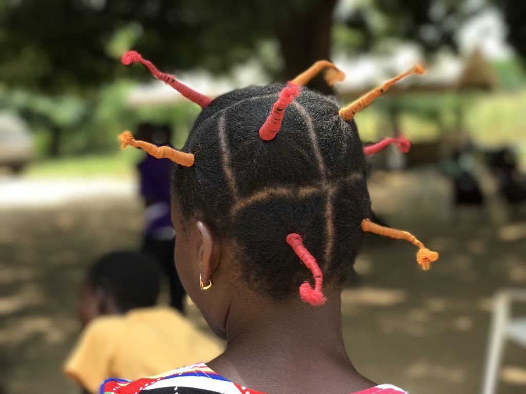
M495 294L482 394L495 394L506 339L526 347L526 318L511 318L513 302L526 302L526 289L504 289Z

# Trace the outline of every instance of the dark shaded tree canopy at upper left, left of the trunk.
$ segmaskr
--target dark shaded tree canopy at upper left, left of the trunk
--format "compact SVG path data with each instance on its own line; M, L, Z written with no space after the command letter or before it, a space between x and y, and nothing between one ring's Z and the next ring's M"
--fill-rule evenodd
M130 47L160 68L224 72L258 57L291 13L319 0L18 0L0 3L0 82L48 93L94 89L119 76Z

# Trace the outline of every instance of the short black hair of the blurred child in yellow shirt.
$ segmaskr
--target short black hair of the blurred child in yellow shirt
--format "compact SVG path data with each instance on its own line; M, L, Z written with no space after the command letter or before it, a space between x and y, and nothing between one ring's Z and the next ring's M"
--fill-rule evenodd
M110 252L89 268L88 284L93 291L111 295L121 312L153 306L160 291L158 263L142 252Z

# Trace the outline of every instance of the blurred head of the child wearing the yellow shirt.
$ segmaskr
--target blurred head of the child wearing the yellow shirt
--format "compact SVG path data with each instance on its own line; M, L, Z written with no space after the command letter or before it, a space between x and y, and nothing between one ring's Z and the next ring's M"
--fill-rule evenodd
M140 252L110 252L89 268L78 315L85 326L100 315L154 306L160 291L158 263Z

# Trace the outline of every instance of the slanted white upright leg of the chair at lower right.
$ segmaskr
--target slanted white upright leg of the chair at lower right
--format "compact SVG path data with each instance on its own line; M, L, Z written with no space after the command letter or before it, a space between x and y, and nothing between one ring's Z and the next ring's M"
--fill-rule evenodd
M510 297L508 293L498 293L495 295L495 304L493 306L486 365L484 376L482 377L482 394L495 394L496 392L509 314Z

